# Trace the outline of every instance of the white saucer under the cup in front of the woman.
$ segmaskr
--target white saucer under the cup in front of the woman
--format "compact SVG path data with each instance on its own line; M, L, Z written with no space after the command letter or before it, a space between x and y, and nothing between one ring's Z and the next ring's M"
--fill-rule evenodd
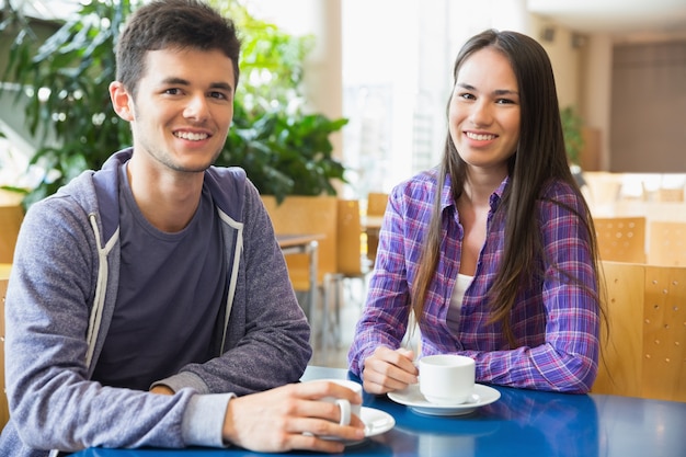
M461 415L469 414L479 407L494 402L500 398L500 392L492 387L476 384L473 393L465 403L444 407L426 400L420 392L420 386L414 384L403 390L388 392L388 398L397 403L410 407L412 411L420 414Z

